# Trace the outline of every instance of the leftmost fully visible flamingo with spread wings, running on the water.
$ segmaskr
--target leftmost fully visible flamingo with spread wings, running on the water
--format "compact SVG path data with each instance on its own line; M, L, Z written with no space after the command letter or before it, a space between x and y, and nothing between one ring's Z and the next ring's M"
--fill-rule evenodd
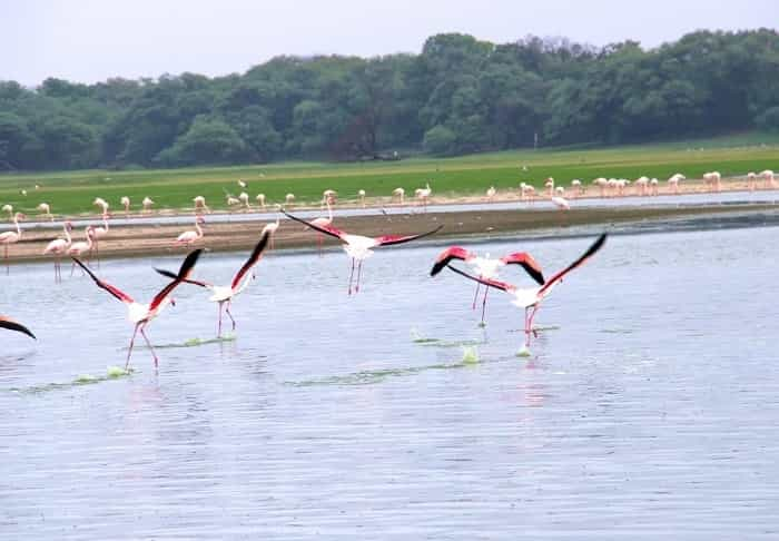
M127 318L135 324L135 331L132 332L132 338L130 338L130 347L127 352L127 362L125 363L125 370L127 370L127 367L130 365L132 344L135 343L136 334L138 334L138 331L140 331L140 334L144 335L146 344L151 351L151 356L155 360L155 367L158 365L157 354L155 353L154 347L151 347L151 342L149 342L149 337L146 336L144 329L149 324L149 322L157 317L162 311L162 308L165 308L168 304L172 304L174 306L176 305L176 301L174 301L170 294L176 288L176 286L178 286L181 282L189 277L189 274L195 267L197 258L200 257L201 252L201 249L196 249L189 255L187 255L187 257L184 259L184 263L181 264L181 267L176 278L168 285L166 285L157 295L155 295L155 297L149 304L136 303L135 301L132 301L132 297L130 297L126 293L95 276L95 274L89 269L89 267L81 263L81 260L77 257L73 257L73 263L77 263L83 270L86 270L87 274L89 274L89 276L92 278L92 281L95 281L98 287L106 289L108 293L110 293L116 298L125 303L125 305L127 306Z

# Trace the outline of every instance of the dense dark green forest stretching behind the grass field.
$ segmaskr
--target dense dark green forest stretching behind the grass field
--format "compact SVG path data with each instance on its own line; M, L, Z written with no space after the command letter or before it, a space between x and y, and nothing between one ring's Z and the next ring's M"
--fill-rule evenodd
M779 35L690 33L643 50L446 33L420 55L278 57L36 89L0 81L0 170L375 159L779 130Z

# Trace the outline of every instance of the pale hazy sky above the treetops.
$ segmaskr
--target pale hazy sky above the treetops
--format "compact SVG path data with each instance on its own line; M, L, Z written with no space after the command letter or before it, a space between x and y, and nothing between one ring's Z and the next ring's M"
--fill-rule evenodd
M0 79L215 76L285 53L418 52L452 31L654 47L696 29L778 21L779 0L0 0Z

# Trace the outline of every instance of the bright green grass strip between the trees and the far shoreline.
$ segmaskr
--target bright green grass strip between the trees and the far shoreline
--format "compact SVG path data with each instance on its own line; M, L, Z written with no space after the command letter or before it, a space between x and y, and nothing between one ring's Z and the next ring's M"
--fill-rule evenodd
M524 168L523 168L524 166ZM526 169L526 170L525 170ZM95 197L109 201L119 212L119 198L128 196L132 209L149 196L155 209L191 208L201 195L209 207L227 208L225 193L237 196L238 179L248 183L252 204L259 193L268 203L282 203L287 193L296 203L314 204L325 189L338 191L341 200L356 199L361 188L368 197L389 199L403 187L406 196L430 181L433 195L484 194L494 185L499 190L521 181L541 186L546 177L568 185L573 178L589 184L595 177L634 179L642 175L665 179L680 171L699 178L704 171L723 176L745 175L762 169L779 170L779 135L745 134L706 140L588 149L517 150L458 158L413 158L365 164L286 163L252 167L158 169L134 171L65 171L0 176L0 206L37 215L34 207L46 201L56 215L95 213ZM34 185L40 189L34 190ZM27 190L27 196L21 190Z

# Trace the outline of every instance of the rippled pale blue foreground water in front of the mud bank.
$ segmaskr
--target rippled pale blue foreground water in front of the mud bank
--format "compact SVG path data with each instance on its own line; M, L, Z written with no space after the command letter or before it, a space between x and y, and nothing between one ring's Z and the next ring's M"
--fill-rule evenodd
M49 265L0 276L2 539L683 539L779 535L776 227L612 236L522 317L430 278L440 245L270 254L233 307L177 291L124 365L124 306ZM590 238L527 249L548 274ZM197 274L229 281L240 255ZM152 265L110 260L148 299ZM519 269L504 279L529 284ZM142 344L142 342L140 342ZM476 357L474 357L474 354Z

